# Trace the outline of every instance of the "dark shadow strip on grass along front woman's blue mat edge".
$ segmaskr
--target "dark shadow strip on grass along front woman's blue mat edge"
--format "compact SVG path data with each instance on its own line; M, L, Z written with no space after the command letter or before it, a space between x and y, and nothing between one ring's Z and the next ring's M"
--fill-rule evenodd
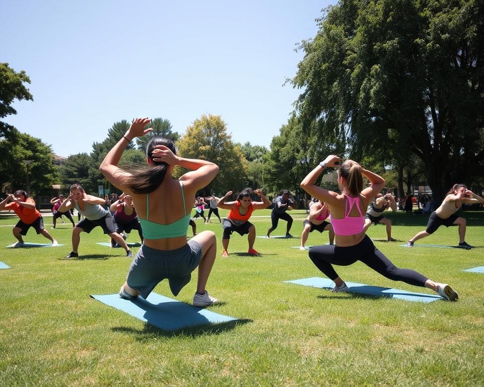
M143 330L127 328L127 327L113 327L111 331L135 334L138 337L137 340L141 342L150 341L157 337L175 337L185 336L190 338L196 338L202 335L218 335L224 332L232 331L237 326L245 325L248 322L252 322L251 319L238 319L233 321L220 322L218 324L207 324L198 327L181 328L175 331L164 331L161 328L155 327L148 322L145 323Z

